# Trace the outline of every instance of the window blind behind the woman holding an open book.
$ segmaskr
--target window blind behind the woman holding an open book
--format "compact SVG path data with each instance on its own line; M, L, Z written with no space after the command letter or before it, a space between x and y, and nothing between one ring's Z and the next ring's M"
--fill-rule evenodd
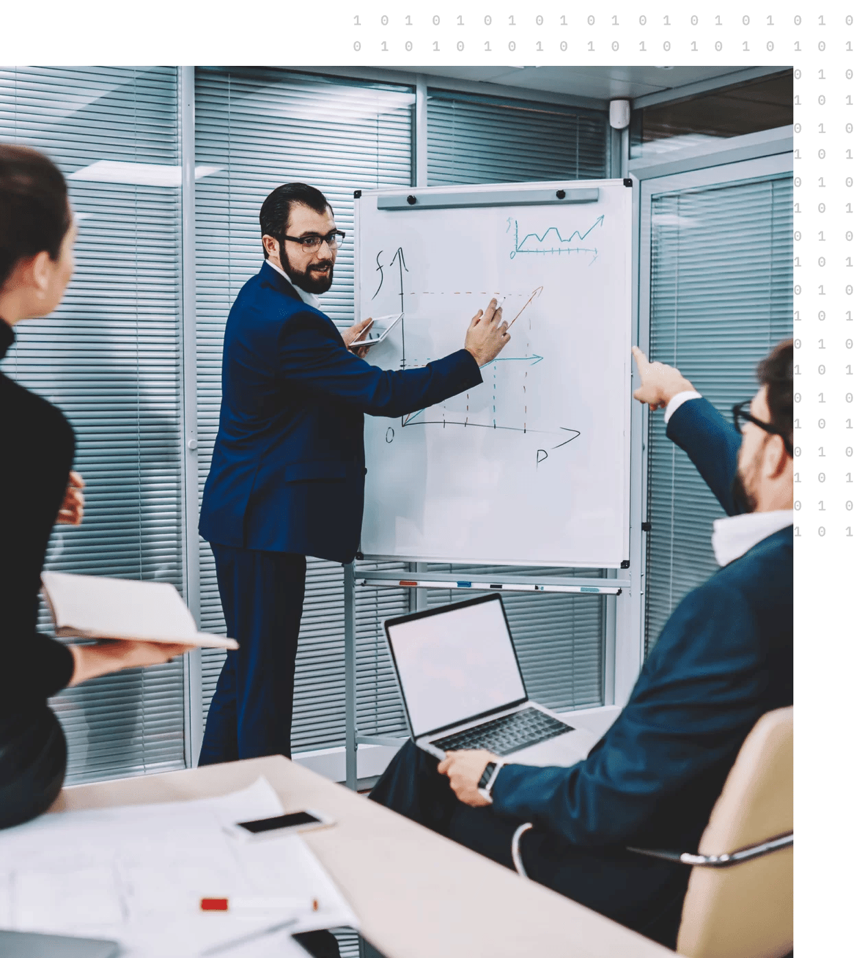
M47 153L79 217L62 305L18 325L4 363L72 422L87 483L83 525L57 527L47 567L180 587L176 71L0 68L0 140ZM44 610L40 627L51 632ZM69 743L67 783L183 767L183 688L176 662L52 699Z

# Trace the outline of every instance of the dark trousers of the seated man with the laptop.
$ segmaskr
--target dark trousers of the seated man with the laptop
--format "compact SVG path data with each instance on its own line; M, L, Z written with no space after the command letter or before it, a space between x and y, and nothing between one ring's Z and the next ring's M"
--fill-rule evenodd
M511 836L521 820L497 814L492 805L473 809L459 802L437 764L434 756L408 741L383 772L371 798L513 869ZM538 827L524 833L520 847L524 869L533 881L647 938L676 947L689 868L634 855L620 846L572 845Z

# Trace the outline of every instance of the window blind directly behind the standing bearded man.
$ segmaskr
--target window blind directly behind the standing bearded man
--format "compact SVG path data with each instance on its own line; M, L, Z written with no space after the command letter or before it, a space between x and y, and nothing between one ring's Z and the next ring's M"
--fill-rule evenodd
M410 185L414 106L414 91L405 86L259 68L195 72L195 164L216 168L198 179L195 190L201 492L218 426L224 324L239 288L261 268L261 202L291 180L327 196L347 239L322 308L340 326L351 325L353 190ZM200 563L201 625L223 631L207 543L201 543ZM344 744L343 576L340 565L308 562L294 696L296 751ZM380 591L363 591L356 605L359 714L363 731L370 732L385 730L392 714L391 690L375 683L382 668L379 617L406 611L408 601L403 590ZM204 716L222 657L203 652Z

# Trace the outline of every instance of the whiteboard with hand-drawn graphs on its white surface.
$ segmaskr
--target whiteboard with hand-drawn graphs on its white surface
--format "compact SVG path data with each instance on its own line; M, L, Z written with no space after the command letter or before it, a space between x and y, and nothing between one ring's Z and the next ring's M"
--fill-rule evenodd
M366 558L628 559L631 195L589 180L356 199L357 319L404 312L369 362L417 368L462 349L491 296L517 316L482 385L366 417Z

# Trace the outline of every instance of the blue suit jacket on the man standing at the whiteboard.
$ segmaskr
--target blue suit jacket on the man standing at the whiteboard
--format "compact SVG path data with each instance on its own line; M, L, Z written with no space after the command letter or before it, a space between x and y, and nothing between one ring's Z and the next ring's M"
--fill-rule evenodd
M204 487L210 542L348 562L365 489L363 413L397 417L482 382L466 350L391 372L266 263L239 291L224 331L221 413Z

